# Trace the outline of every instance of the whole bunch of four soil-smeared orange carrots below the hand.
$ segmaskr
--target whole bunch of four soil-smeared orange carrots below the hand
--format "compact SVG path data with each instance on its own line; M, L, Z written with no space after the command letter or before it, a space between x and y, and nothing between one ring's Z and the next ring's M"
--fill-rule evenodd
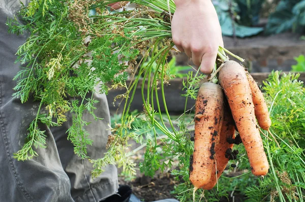
M269 169L260 136L260 128L269 131L271 125L263 94L238 62L228 60L220 68L219 84L203 83L197 95L190 162L194 193L199 188L212 189L230 156L236 157L237 151L231 153L234 140L238 142L235 130L246 148L252 173L264 176Z

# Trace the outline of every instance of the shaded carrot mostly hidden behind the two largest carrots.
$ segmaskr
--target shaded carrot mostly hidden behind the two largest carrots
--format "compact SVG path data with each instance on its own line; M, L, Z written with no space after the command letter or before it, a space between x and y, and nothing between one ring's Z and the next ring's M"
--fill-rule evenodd
M228 108L226 108L224 111L224 118L221 127L221 132L219 135L219 141L216 143L215 146L216 154L214 159L214 170L211 174L209 183L202 187L206 190L212 189L216 185L218 179L225 170L229 161L229 158L227 158L226 156L226 152L228 150L232 150L233 148L233 144L228 143L228 139L232 140L235 138L235 123L229 105L226 107Z

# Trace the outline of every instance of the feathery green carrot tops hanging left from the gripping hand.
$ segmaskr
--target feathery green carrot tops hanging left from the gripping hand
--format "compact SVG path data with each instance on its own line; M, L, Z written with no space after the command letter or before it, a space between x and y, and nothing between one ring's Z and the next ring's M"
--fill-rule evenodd
M134 10L109 13L107 5L114 2L119 1L34 0L27 7L22 6L19 13L25 25L17 18L8 20L10 32L31 33L17 52L17 60L27 65L14 78L17 80L14 96L19 97L21 103L32 98L32 95L40 102L37 116L28 128L25 143L14 154L18 160L31 159L37 156L35 147L45 147L45 135L44 131L38 128L39 122L47 126L59 126L66 121L66 113L72 113L73 124L67 131L68 140L74 145L76 155L93 163L93 177L103 171L102 167L114 163L123 166L126 172L135 173L131 154L126 152L125 147L128 138L142 136L141 133L128 133L131 123L135 120L128 112L139 78L143 78L145 127L153 131L155 140L155 128L159 128L168 136L168 141L179 143L179 136L182 136L183 132L174 128L164 95L164 85L174 77L170 71L173 62L168 63L167 57L173 47L170 15L174 13L175 5L173 1L166 3L163 0L134 0L132 2L137 4ZM95 12L92 12L93 10ZM232 54L220 47L219 57L222 60L227 59L225 52ZM141 60L137 64L136 59L139 56ZM139 70L138 75L131 76L133 82L129 86L125 83L128 78L125 70L128 67ZM202 78L198 73L196 77ZM144 96L146 79L149 90ZM193 83L189 82L188 86ZM119 95L125 99L125 105L121 124L112 128L112 135L107 144L108 152L100 159L90 159L86 148L92 144L92 140L84 129L84 126L90 123L82 119L82 114L87 111L95 119L99 119L94 114L98 100L93 98L93 92L98 85L98 91L106 94L110 88L126 88L126 93ZM188 92L192 90L196 89L188 89ZM166 109L172 130L164 125L162 115L158 113L161 105L158 91L162 92L160 101L162 100ZM76 99L69 100L68 96ZM158 101L157 109L151 105L154 103L154 96ZM47 113L44 113L43 106L46 106ZM156 116L160 116L161 122L156 120ZM151 141L151 145L147 146L151 148L157 160L155 151L159 146L155 143L156 141ZM147 153L147 156L150 154ZM159 168L157 161L153 165L152 169Z

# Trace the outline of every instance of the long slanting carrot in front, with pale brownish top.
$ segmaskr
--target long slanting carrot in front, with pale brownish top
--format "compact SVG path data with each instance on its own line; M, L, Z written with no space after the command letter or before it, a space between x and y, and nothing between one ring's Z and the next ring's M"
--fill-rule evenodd
M245 69L235 61L227 61L219 71L219 80L247 151L252 173L256 176L266 175L269 164L256 124L251 88Z

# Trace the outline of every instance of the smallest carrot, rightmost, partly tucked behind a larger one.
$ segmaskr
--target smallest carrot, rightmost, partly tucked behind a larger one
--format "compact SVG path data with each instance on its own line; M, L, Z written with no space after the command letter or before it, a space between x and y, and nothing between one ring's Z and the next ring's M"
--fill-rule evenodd
M264 130L269 130L269 127L271 125L271 119L269 117L268 107L265 102L263 93L260 91L257 83L248 71L246 72L246 74L252 92L252 100L255 107L255 116L257 122L261 128L263 128Z

